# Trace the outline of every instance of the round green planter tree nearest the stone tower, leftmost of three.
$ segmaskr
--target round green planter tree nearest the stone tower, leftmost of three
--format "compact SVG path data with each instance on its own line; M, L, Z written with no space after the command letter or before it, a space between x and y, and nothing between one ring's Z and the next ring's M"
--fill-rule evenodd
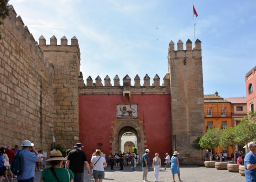
M220 156L220 137L221 137L222 130L219 128L209 128L207 133L204 134L204 136L200 139L200 146L202 148L211 148L211 154L212 154L212 148L218 147L218 153ZM211 156L212 158L212 156ZM212 160L210 158L210 160ZM220 157L220 160L222 162L222 159Z

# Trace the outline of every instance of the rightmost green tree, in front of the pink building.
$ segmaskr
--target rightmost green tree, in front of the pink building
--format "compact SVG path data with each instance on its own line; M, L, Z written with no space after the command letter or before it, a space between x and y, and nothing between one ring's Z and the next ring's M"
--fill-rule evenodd
M256 113L250 112L248 116L244 117L236 127L235 142L242 145L245 144L248 152L248 142L256 139Z

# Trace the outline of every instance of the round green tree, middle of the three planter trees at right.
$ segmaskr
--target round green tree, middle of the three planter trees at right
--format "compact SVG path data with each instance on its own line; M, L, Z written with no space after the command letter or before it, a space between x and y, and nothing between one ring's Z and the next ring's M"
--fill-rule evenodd
M235 150L235 139L237 137L236 135L236 127L228 127L223 129L223 132L220 137L220 145L221 147L227 147L227 146L232 146L233 148L233 153L236 154ZM235 161L236 161L236 156L235 156Z

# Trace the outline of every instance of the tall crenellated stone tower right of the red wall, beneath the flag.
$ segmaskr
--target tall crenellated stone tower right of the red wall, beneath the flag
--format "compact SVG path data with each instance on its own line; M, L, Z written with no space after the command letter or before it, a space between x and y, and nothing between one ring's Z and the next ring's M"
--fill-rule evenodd
M192 49L191 40L169 43L168 69L170 74L172 107L172 144L173 151L178 151L181 161L195 164L201 160L201 152L193 149L192 141L204 135L204 89L202 72L201 41L195 41Z

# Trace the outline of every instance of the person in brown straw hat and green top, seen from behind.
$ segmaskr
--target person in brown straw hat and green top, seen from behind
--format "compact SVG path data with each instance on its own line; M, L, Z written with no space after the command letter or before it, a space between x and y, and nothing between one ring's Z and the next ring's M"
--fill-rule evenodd
M64 160L60 151L51 151L46 161L52 167L42 171L41 182L74 182L74 173L70 169L61 168Z

